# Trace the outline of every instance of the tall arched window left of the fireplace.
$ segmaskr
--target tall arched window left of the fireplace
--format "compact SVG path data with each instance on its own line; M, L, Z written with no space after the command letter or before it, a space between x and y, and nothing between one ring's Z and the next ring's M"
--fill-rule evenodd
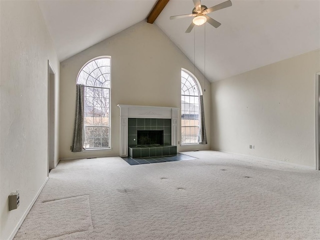
M110 147L110 57L88 61L76 79L84 90L84 148Z

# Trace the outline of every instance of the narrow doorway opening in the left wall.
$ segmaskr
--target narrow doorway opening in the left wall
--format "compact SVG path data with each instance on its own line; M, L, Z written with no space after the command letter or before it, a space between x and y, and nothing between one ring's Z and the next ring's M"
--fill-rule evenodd
M55 72L48 60L48 175L54 168Z

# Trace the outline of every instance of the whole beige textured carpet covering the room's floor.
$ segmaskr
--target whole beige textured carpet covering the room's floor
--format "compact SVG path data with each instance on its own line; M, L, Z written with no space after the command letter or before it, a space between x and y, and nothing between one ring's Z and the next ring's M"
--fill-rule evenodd
M14 239L320 239L320 171L184 153L60 161Z

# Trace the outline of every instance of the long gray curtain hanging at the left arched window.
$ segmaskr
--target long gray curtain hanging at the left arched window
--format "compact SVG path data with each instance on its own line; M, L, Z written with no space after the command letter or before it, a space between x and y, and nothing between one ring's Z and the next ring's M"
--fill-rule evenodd
M73 128L72 152L83 150L84 143L84 85L76 84L75 118Z

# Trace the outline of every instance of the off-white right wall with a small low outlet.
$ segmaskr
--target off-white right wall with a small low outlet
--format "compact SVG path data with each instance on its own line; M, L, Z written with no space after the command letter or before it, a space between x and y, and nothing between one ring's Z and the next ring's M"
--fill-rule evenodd
M314 50L212 83L211 148L315 167L319 71Z

